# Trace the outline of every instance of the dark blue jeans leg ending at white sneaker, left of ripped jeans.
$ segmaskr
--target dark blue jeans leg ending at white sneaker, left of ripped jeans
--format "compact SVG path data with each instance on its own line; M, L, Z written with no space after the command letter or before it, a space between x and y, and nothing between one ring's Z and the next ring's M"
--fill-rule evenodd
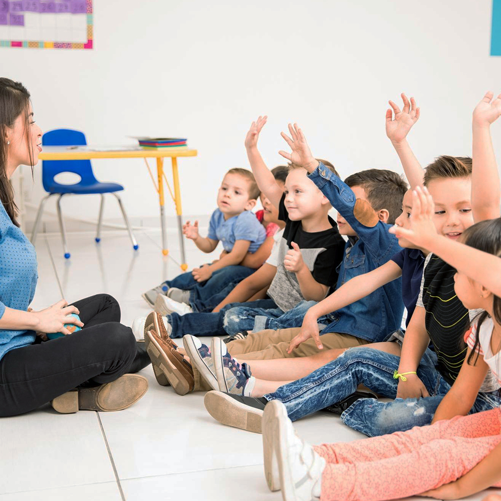
M271 299L258 299L248 303L231 303L217 313L196 312L178 315L172 313L167 315L167 321L172 326L171 338L182 338L185 334L193 336L222 336L226 334L223 328L224 314L234 306L256 305L257 307L271 308L275 302Z

